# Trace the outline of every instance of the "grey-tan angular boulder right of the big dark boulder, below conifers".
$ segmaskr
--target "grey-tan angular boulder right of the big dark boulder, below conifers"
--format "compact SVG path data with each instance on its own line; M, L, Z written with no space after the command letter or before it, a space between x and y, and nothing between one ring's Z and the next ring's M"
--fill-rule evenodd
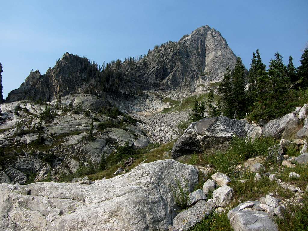
M293 137L299 130L301 121L293 113L282 116L281 118L270 120L262 128L264 137L274 137L275 139L288 139Z

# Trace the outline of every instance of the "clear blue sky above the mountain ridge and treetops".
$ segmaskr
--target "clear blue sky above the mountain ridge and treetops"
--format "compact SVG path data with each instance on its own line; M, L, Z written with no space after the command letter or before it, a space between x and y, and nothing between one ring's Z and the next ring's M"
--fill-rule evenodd
M101 64L143 55L203 25L220 31L249 69L260 50L268 65L279 51L299 65L308 41L307 0L0 0L3 95L31 69L45 74L68 51Z

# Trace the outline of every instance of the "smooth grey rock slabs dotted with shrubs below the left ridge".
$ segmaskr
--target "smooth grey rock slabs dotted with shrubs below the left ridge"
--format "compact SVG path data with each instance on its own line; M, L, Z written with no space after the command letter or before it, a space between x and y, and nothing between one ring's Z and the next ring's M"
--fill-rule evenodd
M72 99L73 109L67 106L69 99ZM56 101L48 106L26 100L2 103L0 183L24 184L47 177L59 180L61 175L73 174L79 168L97 169L102 156L109 156L118 145L128 142L129 147L139 149L151 144L137 124L127 119L122 121L121 128L114 128L120 123L119 119L83 111L102 105L107 108L109 104L94 95L62 97L60 105ZM41 121L44 141L38 145L39 130L35 128L40 126L39 115L45 107L50 108L54 118ZM92 139L87 139L92 118ZM100 129L101 123L109 124L110 128L105 128L107 125ZM87 166L89 162L91 166Z

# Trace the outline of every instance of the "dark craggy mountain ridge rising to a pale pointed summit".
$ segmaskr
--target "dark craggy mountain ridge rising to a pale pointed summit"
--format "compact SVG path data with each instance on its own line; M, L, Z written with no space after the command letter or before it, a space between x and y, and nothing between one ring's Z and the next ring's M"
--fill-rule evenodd
M7 102L22 99L51 101L57 95L87 93L117 101L146 98L145 92L172 91L190 94L220 81L236 56L221 34L202 26L178 42L167 42L144 57L111 62L100 68L87 58L66 53L45 75L31 72L9 93ZM145 100L146 101L146 100ZM122 101L123 102L123 101Z

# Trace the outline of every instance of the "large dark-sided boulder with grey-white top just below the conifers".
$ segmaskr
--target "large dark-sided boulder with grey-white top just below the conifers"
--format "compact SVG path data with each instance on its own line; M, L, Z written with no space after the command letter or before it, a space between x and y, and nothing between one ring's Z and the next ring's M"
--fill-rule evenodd
M233 135L247 137L254 126L225 116L205 118L191 123L172 148L173 159L193 152L226 145ZM252 136L252 134L250 135Z

